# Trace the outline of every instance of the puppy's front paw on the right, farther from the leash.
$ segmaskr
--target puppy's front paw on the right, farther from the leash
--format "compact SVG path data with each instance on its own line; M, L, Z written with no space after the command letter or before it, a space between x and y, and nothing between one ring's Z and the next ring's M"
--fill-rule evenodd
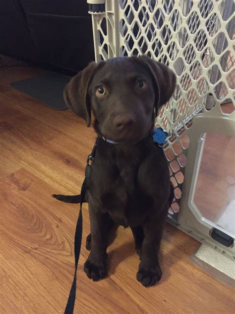
M136 278L144 287L151 287L156 284L162 277L162 270L160 266L155 269L150 267L139 267Z

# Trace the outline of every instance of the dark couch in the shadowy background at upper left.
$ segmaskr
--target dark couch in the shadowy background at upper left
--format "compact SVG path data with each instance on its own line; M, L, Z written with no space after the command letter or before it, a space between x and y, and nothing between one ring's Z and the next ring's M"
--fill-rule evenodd
M0 53L80 71L94 60L86 0L0 0Z

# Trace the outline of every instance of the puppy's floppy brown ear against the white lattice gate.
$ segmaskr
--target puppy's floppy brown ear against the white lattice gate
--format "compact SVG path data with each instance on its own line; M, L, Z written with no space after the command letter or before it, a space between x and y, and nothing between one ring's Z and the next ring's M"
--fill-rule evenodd
M144 62L145 67L151 73L154 82L156 95L156 113L160 106L165 104L172 96L176 87L176 75L165 64L154 61L147 56L141 56L139 59Z

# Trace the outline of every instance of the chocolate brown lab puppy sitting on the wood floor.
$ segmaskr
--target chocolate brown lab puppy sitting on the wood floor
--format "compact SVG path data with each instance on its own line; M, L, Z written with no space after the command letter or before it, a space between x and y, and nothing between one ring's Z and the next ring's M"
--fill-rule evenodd
M175 84L167 66L141 56L93 62L64 89L67 105L87 126L93 112L100 136L86 194L91 235L84 271L94 281L107 275L112 222L131 228L140 256L137 280L149 287L161 278L158 252L173 189L167 159L153 142L152 130ZM58 197L76 202L74 198Z

